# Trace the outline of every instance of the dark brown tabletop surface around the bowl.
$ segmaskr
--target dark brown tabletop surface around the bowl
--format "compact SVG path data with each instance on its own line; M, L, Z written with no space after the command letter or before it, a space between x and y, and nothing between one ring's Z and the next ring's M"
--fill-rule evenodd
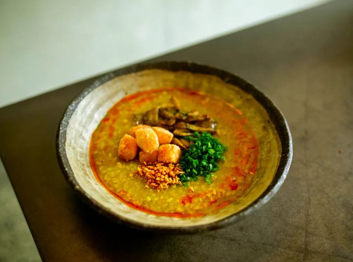
M94 77L0 109L1 158L42 259L353 260L353 1L153 60L213 65L268 94L293 137L284 184L243 221L201 234L141 232L96 214L76 197L55 156L58 122Z

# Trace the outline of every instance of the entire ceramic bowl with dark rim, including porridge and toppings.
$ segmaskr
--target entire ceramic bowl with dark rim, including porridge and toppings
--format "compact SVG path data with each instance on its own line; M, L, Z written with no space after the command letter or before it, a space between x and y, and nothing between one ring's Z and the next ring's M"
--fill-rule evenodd
M192 62L137 64L68 106L61 169L87 204L131 227L196 232L264 205L292 158L285 118L252 84Z

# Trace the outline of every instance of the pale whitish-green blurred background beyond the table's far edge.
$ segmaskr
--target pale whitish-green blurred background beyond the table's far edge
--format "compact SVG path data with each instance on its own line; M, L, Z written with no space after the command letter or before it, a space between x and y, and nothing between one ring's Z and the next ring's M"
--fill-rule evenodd
M0 0L0 107L327 0Z

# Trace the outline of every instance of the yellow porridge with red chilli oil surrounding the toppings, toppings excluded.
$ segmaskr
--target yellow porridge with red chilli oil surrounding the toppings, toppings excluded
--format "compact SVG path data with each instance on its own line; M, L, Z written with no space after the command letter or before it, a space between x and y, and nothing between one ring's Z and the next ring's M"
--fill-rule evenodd
M135 125L132 115L166 103L181 102L181 110L198 110L217 121L217 137L228 150L212 183L202 176L188 186L160 190L146 188L136 173L138 160L126 162L117 156L120 139ZM171 217L195 217L212 213L237 199L250 185L257 168L257 139L243 114L224 100L199 91L175 88L150 90L125 97L105 115L92 134L90 163L97 179L116 198L147 213ZM194 189L192 191L191 187Z

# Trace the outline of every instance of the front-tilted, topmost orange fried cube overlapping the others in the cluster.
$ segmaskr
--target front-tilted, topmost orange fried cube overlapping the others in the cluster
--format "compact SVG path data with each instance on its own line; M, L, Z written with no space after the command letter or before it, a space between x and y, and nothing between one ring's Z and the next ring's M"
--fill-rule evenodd
M135 132L137 145L146 153L151 153L159 147L157 134L151 127L138 128Z

